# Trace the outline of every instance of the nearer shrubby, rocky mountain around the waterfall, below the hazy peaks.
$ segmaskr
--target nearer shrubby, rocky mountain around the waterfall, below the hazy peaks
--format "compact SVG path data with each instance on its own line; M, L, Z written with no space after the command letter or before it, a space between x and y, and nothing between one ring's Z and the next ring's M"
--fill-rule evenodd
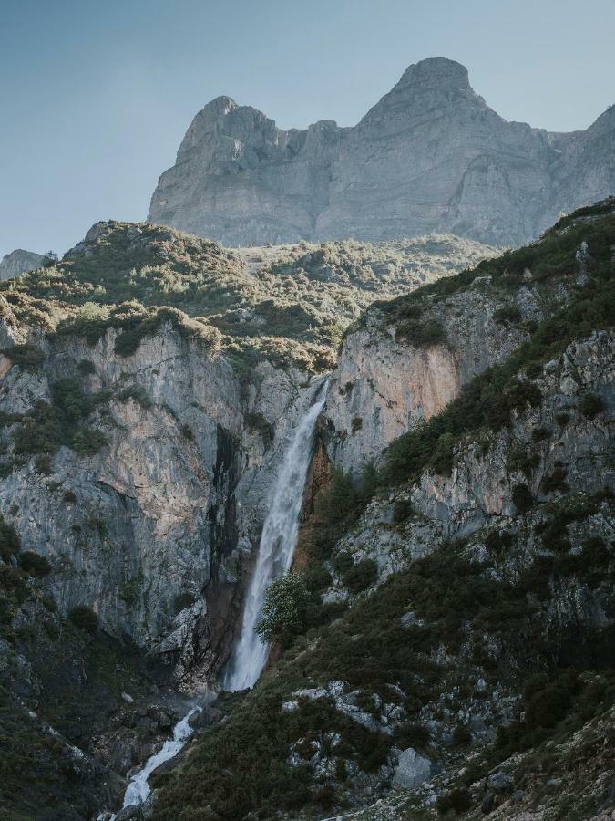
M613 245L612 199L457 274L108 222L0 286L0 815L108 817L215 687L325 379L302 608L147 817L610 807Z

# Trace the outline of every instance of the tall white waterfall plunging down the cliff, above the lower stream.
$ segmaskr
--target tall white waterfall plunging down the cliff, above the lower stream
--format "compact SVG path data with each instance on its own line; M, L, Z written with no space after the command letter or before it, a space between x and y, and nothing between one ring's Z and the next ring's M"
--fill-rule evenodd
M313 432L323 410L327 383L297 425L278 471L271 503L262 527L256 567L251 577L243 609L241 637L224 678L226 690L244 690L258 681L267 660L268 645L261 641L256 626L261 618L265 592L272 581L286 573L299 530L303 487L312 456Z

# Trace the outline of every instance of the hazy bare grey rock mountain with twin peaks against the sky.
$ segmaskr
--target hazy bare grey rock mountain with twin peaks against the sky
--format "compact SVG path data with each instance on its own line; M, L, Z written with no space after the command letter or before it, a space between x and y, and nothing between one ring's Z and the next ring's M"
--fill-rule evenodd
M467 70L406 69L353 128L281 130L229 97L200 110L149 221L227 245L399 239L430 232L518 245L615 190L615 107L585 131L507 122Z

